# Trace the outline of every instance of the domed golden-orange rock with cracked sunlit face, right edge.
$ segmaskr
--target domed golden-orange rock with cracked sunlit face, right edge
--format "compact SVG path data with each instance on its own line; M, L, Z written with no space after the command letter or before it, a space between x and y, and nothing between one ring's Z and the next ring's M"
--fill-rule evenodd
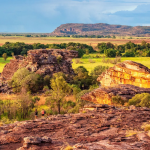
M97 78L97 81L102 86L131 84L150 88L150 69L140 63L126 60L110 67Z

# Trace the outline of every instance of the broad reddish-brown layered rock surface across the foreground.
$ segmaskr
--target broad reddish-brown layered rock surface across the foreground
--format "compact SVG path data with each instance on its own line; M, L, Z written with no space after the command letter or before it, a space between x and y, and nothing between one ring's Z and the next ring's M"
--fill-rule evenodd
M91 107L93 111L88 110ZM0 149L60 150L67 145L74 150L150 149L149 132L141 128L150 121L150 109L91 105L85 110L1 126Z

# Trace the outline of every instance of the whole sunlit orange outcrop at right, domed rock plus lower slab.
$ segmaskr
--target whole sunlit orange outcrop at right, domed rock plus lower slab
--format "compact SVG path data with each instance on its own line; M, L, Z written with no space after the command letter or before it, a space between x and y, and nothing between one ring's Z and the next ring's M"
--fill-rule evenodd
M128 101L136 94L150 93L150 69L133 61L124 61L110 67L97 81L101 87L83 95L83 100L112 104L113 96L118 95Z

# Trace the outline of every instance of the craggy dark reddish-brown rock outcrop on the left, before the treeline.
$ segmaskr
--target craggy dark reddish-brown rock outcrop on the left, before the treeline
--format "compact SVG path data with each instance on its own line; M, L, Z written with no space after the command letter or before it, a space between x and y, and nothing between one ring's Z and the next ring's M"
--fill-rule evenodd
M63 49L30 50L27 57L15 56L6 64L1 74L1 80L10 80L19 68L27 68L29 71L41 75L52 75L56 72L73 74L71 59L78 57L77 51Z

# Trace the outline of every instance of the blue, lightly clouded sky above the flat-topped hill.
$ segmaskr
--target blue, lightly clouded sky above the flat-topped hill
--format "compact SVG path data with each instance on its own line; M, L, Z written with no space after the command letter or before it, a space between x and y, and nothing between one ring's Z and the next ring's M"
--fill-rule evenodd
M66 23L150 26L150 0L0 0L0 32L50 33Z

